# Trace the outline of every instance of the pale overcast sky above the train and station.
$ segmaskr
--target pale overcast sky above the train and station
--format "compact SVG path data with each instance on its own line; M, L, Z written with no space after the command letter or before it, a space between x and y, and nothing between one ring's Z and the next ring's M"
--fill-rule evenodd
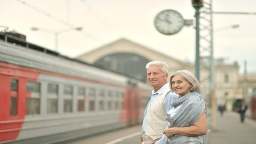
M213 11L256 13L255 7L256 0L212 2ZM51 50L55 50L55 33L59 32L57 51L72 58L127 38L178 60L195 61L194 26L168 36L154 27L155 16L166 9L195 21L191 0L0 0L0 9L0 31L7 26L26 35L28 42ZM233 24L239 24L239 28L229 28ZM247 72L256 73L255 26L253 14L213 14L214 57L230 64L237 61L240 74L246 60ZM32 31L31 27L41 29Z

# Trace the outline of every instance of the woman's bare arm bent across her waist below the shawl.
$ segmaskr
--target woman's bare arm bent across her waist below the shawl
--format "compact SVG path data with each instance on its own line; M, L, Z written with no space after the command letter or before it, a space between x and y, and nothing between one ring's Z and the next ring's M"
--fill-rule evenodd
M207 118L206 110L200 115L196 123L190 127L172 127L164 131L164 134L168 138L174 134L185 135L185 136L198 136L207 134Z

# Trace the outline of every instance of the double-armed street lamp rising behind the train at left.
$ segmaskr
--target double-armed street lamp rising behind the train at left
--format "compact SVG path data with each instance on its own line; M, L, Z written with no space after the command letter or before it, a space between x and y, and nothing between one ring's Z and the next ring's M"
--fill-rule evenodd
M55 51L57 51L58 50L58 36L59 36L60 33L64 33L66 31L70 31L70 30L81 31L81 30L83 30L83 27L74 27L74 28L71 28L71 29L63 29L63 30L59 30L59 31L44 29L44 28L40 28L40 27L31 27L31 30L33 30L33 31L40 30L40 31L44 31L44 32L47 32L47 33L54 34L54 36L55 36Z

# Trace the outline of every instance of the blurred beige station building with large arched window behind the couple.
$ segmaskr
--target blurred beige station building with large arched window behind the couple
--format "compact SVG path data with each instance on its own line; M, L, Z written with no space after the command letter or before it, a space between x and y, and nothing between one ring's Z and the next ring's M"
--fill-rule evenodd
M82 54L77 59L124 73L142 81L146 81L147 78L145 65L154 60L165 61L169 66L170 74L184 69L194 73L193 64L177 60L124 38ZM209 64L203 60L200 61L200 64L201 93L209 104ZM232 103L237 95L239 83L239 66L236 62L226 64L224 59L218 59L214 64L217 104L224 102L227 110L232 110Z

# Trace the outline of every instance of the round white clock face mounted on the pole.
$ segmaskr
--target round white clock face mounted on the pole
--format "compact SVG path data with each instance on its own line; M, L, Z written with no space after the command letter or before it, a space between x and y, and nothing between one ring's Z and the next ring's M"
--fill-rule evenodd
M155 17L155 28L163 34L175 34L182 29L184 19L178 11L164 10Z

